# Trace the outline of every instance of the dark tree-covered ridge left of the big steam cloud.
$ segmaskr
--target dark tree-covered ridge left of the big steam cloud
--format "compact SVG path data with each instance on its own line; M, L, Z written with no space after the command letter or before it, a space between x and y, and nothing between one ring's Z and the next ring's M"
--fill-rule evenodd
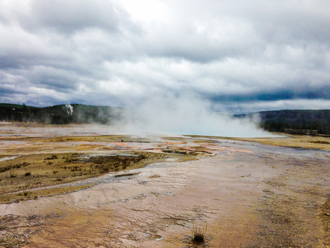
M0 121L47 124L111 124L120 118L120 110L120 107L80 104L31 107L25 104L0 103Z

